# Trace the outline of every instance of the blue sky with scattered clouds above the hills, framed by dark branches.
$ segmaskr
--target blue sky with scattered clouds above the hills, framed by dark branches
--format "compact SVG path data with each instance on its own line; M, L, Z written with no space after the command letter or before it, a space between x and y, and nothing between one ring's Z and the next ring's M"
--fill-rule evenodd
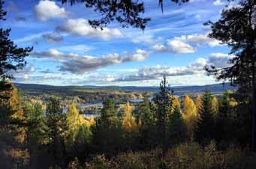
M19 47L33 46L27 65L14 73L14 82L52 85L158 86L167 76L171 86L217 83L203 67L229 67L230 49L210 39L203 23L217 21L221 10L236 2L191 0L186 4L144 1L144 31L112 22L103 30L89 19L99 13L84 4L53 0L5 1L11 40Z

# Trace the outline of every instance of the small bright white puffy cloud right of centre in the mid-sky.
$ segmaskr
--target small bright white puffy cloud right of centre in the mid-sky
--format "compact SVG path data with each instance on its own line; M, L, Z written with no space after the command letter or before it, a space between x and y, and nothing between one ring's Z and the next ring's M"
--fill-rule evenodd
M174 53L194 53L195 49L188 43L182 40L167 40L168 46L172 49Z

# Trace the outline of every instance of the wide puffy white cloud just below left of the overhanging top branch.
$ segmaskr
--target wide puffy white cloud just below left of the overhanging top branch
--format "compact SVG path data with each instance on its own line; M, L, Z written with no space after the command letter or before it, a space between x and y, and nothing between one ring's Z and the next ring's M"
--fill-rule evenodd
M68 19L63 25L58 26L56 30L83 37L100 37L104 40L123 36L117 28L92 28L86 19Z

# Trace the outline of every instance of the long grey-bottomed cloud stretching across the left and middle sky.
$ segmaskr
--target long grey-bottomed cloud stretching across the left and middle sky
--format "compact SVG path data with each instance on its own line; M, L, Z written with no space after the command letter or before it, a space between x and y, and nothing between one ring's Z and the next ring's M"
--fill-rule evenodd
M125 53L124 56L113 53L101 57L93 57L74 53L65 54L56 49L50 49L47 52L33 52L32 55L37 58L50 58L58 61L61 64L60 71L83 74L114 64L122 64L128 61L143 61L149 56L149 53L142 49L137 49L131 54Z

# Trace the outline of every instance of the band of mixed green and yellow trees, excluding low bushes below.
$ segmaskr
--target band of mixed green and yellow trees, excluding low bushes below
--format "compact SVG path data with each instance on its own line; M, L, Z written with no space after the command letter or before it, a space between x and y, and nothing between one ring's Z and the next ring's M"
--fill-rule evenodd
M115 102L106 99L98 117L93 118L83 117L74 104L64 113L58 98L49 99L43 110L35 101L23 101L10 82L2 85L11 85L11 90L0 93L6 97L0 100L0 108L5 110L1 117L1 143L5 146L1 148L7 161L1 164L3 168L67 168L74 159L84 163L97 154L110 158L120 152L155 148L166 156L170 148L193 141L203 147L215 141L218 150L230 144L251 144L246 137L250 124L243 123L250 117L240 115L243 103L232 91L218 99L209 91L179 99L164 77L152 101L145 96L140 105L126 102L117 111ZM14 143L10 139L15 147L8 145Z

